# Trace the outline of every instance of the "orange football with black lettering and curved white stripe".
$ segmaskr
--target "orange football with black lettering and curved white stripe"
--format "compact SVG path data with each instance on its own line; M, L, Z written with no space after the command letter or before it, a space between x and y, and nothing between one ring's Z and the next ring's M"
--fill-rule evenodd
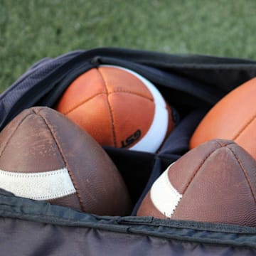
M100 65L78 76L55 105L102 146L155 152L174 129L174 109L146 78Z

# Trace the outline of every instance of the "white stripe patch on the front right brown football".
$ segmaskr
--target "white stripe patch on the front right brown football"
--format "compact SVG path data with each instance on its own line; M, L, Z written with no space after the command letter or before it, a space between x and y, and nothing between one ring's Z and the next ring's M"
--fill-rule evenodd
M170 167L170 166L169 166ZM178 206L182 195L171 185L168 176L169 167L163 174L154 182L151 187L150 197L156 209L163 215L171 218L174 210Z

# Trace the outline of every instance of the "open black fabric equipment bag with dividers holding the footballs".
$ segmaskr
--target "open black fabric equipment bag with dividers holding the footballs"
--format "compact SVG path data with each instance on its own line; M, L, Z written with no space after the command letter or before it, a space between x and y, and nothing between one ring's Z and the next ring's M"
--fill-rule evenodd
M179 113L176 129L156 154L104 147L127 183L132 214L90 215L0 189L0 255L256 255L256 228L136 216L156 178L186 154L210 107L255 77L256 61L122 48L45 58L0 95L0 130L28 107L53 107L70 82L102 64L144 76Z

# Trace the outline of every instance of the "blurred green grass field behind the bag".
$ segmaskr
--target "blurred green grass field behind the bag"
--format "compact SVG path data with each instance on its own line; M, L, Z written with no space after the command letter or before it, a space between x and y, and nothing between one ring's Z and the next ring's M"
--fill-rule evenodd
M255 0L0 0L0 92L44 57L104 46L256 59Z

